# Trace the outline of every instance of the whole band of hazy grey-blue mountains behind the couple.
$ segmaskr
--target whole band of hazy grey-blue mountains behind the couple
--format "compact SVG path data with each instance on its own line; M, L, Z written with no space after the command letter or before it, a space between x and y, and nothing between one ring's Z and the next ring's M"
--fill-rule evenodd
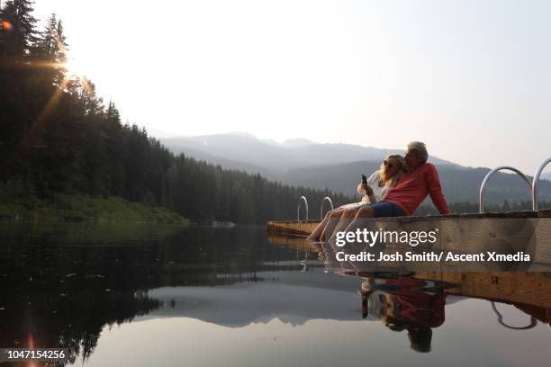
M403 149L361 147L351 144L320 144L308 139L284 143L261 140L246 133L161 139L176 153L202 159L228 169L260 173L270 180L296 186L356 194L362 174L379 168L389 154ZM478 202L478 192L489 168L459 166L438 157L429 162L438 167L448 201ZM542 175L551 178L551 173ZM551 201L551 182L540 183L539 200ZM528 188L517 175L497 173L487 187L486 200L494 203L529 200Z

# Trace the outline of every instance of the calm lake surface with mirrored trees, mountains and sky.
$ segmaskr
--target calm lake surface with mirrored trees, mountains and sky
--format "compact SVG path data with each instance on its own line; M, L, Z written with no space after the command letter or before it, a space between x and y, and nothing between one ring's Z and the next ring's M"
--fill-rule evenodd
M503 324L530 326L505 327L489 300L347 272L264 228L4 223L0 240L0 347L66 347L69 365L546 366L551 356L541 304L495 302Z

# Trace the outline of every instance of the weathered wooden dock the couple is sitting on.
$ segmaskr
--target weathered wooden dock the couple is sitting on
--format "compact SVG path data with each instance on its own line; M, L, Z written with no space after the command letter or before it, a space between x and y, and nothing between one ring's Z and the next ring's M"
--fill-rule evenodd
M268 221L268 236L307 237L320 223L308 221ZM437 241L416 246L416 251L530 255L533 266L551 266L551 210L507 213L456 214L447 216L362 219L371 231L437 231ZM386 246L412 249L408 244L385 241Z

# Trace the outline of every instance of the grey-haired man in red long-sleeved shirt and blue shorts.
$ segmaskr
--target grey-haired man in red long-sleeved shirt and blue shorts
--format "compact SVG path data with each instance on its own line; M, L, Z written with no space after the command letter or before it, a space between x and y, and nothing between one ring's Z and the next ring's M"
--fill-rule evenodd
M400 217L412 215L427 195L440 214L449 214L435 166L427 163L429 153L424 143L408 144L404 157L406 166L400 182L389 192L384 201L358 210L356 218Z

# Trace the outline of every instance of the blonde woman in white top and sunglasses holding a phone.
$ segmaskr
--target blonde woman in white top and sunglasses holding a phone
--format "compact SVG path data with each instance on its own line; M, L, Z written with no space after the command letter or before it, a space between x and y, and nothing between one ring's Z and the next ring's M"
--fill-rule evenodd
M384 158L381 169L375 171L367 179L367 183L359 183L357 192L364 193L362 201L342 205L335 210L330 210L321 223L316 227L308 239L319 241L329 238L335 231L338 219L343 217L354 218L357 210L360 208L375 204L375 202L384 200L384 197L390 192L400 180L404 166L403 157L399 154L392 154ZM331 219L331 220L330 220Z

